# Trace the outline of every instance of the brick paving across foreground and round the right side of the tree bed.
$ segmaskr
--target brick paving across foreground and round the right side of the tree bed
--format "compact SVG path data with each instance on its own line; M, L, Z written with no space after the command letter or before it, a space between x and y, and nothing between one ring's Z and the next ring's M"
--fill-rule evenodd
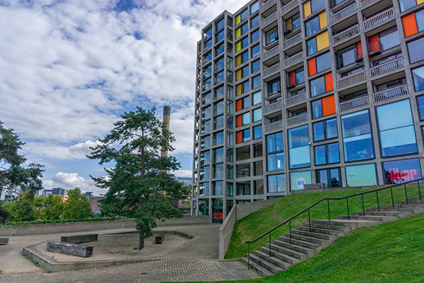
M218 262L218 229L218 225L155 229L155 231L180 231L195 237L187 245L167 255L166 260L69 272L5 274L0 275L0 283L182 282L259 278L256 272L247 270L242 262Z

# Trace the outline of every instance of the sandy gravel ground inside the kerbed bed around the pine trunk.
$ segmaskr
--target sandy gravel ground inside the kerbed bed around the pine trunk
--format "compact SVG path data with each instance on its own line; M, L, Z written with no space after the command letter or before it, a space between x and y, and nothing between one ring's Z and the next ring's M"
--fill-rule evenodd
M152 259L162 258L167 253L172 252L179 246L190 241L188 238L173 234L165 234L162 244L153 243L155 237L146 238L143 250L138 250L139 234L124 233L112 235L100 235L98 241L82 243L82 245L93 246L93 256L81 258L75 255L66 255L64 253L54 253L46 250L47 243L41 243L35 246L37 250L49 255L61 262L70 261L88 261L88 260L126 260L126 259Z

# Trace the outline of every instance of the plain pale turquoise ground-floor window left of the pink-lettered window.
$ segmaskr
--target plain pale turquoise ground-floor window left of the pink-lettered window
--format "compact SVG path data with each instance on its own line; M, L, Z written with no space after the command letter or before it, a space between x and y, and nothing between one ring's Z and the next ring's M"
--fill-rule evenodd
M348 187L378 185L375 163L346 166L346 182Z

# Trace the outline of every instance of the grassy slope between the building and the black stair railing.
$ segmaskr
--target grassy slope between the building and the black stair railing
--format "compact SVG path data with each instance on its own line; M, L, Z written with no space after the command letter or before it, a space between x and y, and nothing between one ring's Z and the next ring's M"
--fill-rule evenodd
M286 219L294 216L303 209L309 207L314 202L321 200L324 197L342 197L346 195L353 195L358 192L366 192L369 190L345 190L345 191L333 191L333 192L310 192L298 195L288 195L287 197L281 198L277 202L271 204L265 209L261 209L259 212L255 212L246 216L245 218L237 221L235 229L232 233L230 246L228 247L225 258L240 258L247 254L247 244L245 241L252 241L254 238L261 236L273 227L281 224ZM394 190L394 201L405 200L405 192L403 187L396 187ZM417 197L418 188L408 187L408 197ZM377 208L377 197L375 193L368 194L364 197L365 208ZM390 204L391 195L390 190L384 190L379 192L379 203ZM346 215L346 200L330 201L331 218L335 218L336 215ZM349 200L349 210L351 212L362 211L361 197L354 197ZM310 211L311 219L326 219L328 217L327 204L322 202L317 207L314 207ZM299 226L302 222L307 221L307 213L302 214L296 221L292 223L292 228ZM282 236L283 233L288 231L288 225L281 227L271 234L271 238L277 238ZM251 245L251 250L258 249L259 246L264 246L269 241L268 236L262 238L257 243Z

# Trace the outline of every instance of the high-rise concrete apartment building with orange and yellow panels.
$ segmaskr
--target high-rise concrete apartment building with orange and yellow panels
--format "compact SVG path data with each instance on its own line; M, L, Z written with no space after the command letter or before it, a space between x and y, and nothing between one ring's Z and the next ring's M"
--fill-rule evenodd
M192 214L424 168L424 0L254 0L202 30ZM223 217L220 217L223 215Z

